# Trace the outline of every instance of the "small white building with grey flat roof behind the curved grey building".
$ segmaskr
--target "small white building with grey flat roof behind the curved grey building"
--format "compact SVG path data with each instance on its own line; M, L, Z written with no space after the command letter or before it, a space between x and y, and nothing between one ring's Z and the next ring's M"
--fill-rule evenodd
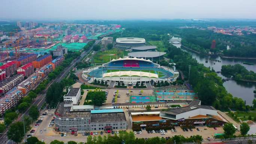
M68 88L68 93L63 96L64 101L72 101L73 104L78 104L81 97L81 88Z

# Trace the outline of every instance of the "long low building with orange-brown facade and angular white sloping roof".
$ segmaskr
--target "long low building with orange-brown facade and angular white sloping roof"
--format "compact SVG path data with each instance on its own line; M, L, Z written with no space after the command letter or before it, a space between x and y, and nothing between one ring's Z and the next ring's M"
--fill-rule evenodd
M170 108L166 111L129 111L132 129L171 129L174 126L190 128L196 125L222 125L226 123L212 106L201 105L201 101L193 100L188 105Z

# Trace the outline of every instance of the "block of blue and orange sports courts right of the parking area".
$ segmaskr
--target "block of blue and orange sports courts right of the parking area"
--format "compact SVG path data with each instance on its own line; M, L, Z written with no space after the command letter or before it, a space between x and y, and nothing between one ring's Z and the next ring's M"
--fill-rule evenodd
M197 99L193 90L170 90L170 89L157 89L154 91L156 100L192 100Z

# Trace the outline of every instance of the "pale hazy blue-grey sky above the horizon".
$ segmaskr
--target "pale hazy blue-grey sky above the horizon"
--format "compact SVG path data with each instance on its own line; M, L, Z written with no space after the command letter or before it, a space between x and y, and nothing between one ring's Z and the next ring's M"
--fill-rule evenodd
M0 0L0 19L256 19L256 0Z

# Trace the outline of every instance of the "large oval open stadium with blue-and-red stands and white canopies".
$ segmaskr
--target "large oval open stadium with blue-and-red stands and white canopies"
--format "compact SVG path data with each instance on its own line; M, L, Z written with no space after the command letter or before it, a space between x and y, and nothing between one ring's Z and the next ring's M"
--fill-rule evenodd
M136 83L144 86L158 81L174 82L178 76L179 72L155 64L149 59L128 57L112 59L103 65L83 71L83 77L88 78L88 83L93 83L96 79L103 80L110 86L116 86L118 82L123 86L135 86Z

